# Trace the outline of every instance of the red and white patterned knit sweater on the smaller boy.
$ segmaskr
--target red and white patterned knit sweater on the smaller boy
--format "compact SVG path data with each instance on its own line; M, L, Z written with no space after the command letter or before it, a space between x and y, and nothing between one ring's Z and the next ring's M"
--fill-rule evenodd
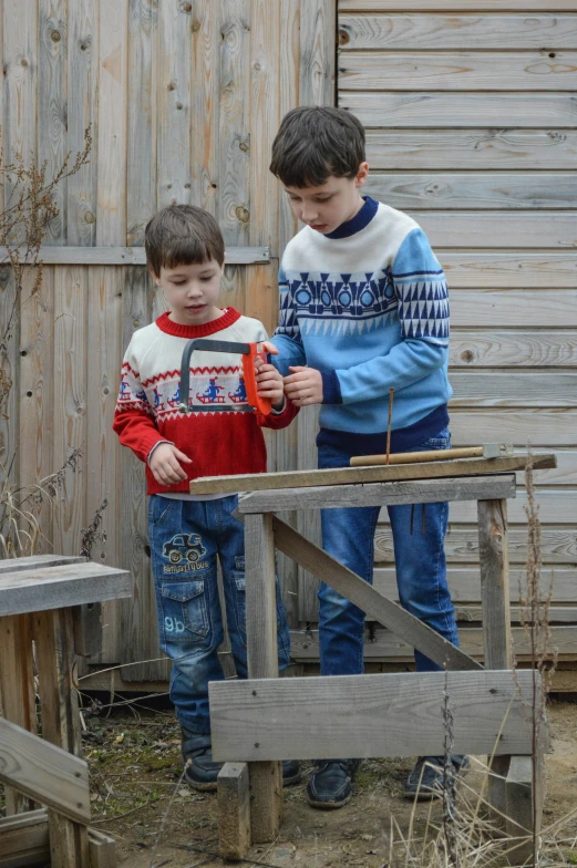
M240 412L238 406L248 403L241 356L198 350L190 358L189 403L203 412L179 413L184 347L190 338L208 337L250 343L267 340L258 320L228 308L204 326L179 326L163 313L136 331L126 350L113 424L122 445L146 463L157 443L169 441L193 459L183 464L188 479L168 487L156 482L146 464L148 494L187 493L188 482L198 476L264 473L267 453L260 427L284 428L297 415L290 401L281 413L267 416ZM229 412L210 412L212 404L225 405Z

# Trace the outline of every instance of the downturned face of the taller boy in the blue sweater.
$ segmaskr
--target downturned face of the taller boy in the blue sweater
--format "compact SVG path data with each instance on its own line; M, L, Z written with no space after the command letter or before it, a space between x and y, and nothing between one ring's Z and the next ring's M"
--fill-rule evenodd
M361 163L354 178L330 178L319 187L285 187L292 211L301 223L321 235L338 229L360 211L363 200L360 188L369 174L369 164Z

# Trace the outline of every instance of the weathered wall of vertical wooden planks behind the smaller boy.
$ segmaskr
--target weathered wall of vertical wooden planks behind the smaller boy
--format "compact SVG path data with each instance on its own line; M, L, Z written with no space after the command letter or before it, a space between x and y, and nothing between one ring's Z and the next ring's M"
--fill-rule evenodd
M90 162L56 192L60 215L45 244L142 246L158 207L199 205L217 217L227 247L270 247L268 265L226 268L223 303L271 331L279 257L296 223L268 172L270 146L289 108L333 104L336 10L334 0L6 0L6 157L47 159L53 173L82 149L91 125ZM125 663L126 680L164 679L166 661L141 662L161 655L143 468L111 431L124 349L164 300L140 266L47 266L35 298L31 279L1 360L14 388L0 417L0 461L16 453L12 482L34 483L81 450L58 508L44 510L41 550L78 554L107 499L106 542L92 556L131 570L134 599L104 604L93 662ZM13 292L0 266L2 322ZM297 467L298 431L267 435L271 468ZM282 560L281 572L296 626L297 568Z

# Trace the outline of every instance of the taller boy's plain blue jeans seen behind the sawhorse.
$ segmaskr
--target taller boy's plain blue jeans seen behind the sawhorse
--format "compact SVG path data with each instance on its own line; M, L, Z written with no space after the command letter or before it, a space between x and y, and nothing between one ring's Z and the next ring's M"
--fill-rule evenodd
M411 452L449 448L447 428ZM349 451L319 447L319 467L347 467ZM399 599L412 614L458 644L455 614L446 585L444 538L449 504L389 506L393 533ZM424 510L424 518L423 518ZM380 507L322 509L322 547L372 585L374 531ZM412 518L411 518L412 513ZM423 533L424 528L424 533ZM411 533L412 530L412 533ZM319 590L320 671L322 675L352 675L363 671L364 612L324 582ZM416 669L442 669L415 650Z

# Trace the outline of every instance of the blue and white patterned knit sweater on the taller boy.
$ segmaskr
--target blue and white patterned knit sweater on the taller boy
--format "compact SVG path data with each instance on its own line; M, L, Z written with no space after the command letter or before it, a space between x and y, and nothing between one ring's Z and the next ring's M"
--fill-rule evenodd
M447 287L411 217L365 197L329 235L305 227L286 248L279 285L274 361L284 375L289 365L321 371L321 428L374 442L387 432L391 388L394 451L447 424Z

